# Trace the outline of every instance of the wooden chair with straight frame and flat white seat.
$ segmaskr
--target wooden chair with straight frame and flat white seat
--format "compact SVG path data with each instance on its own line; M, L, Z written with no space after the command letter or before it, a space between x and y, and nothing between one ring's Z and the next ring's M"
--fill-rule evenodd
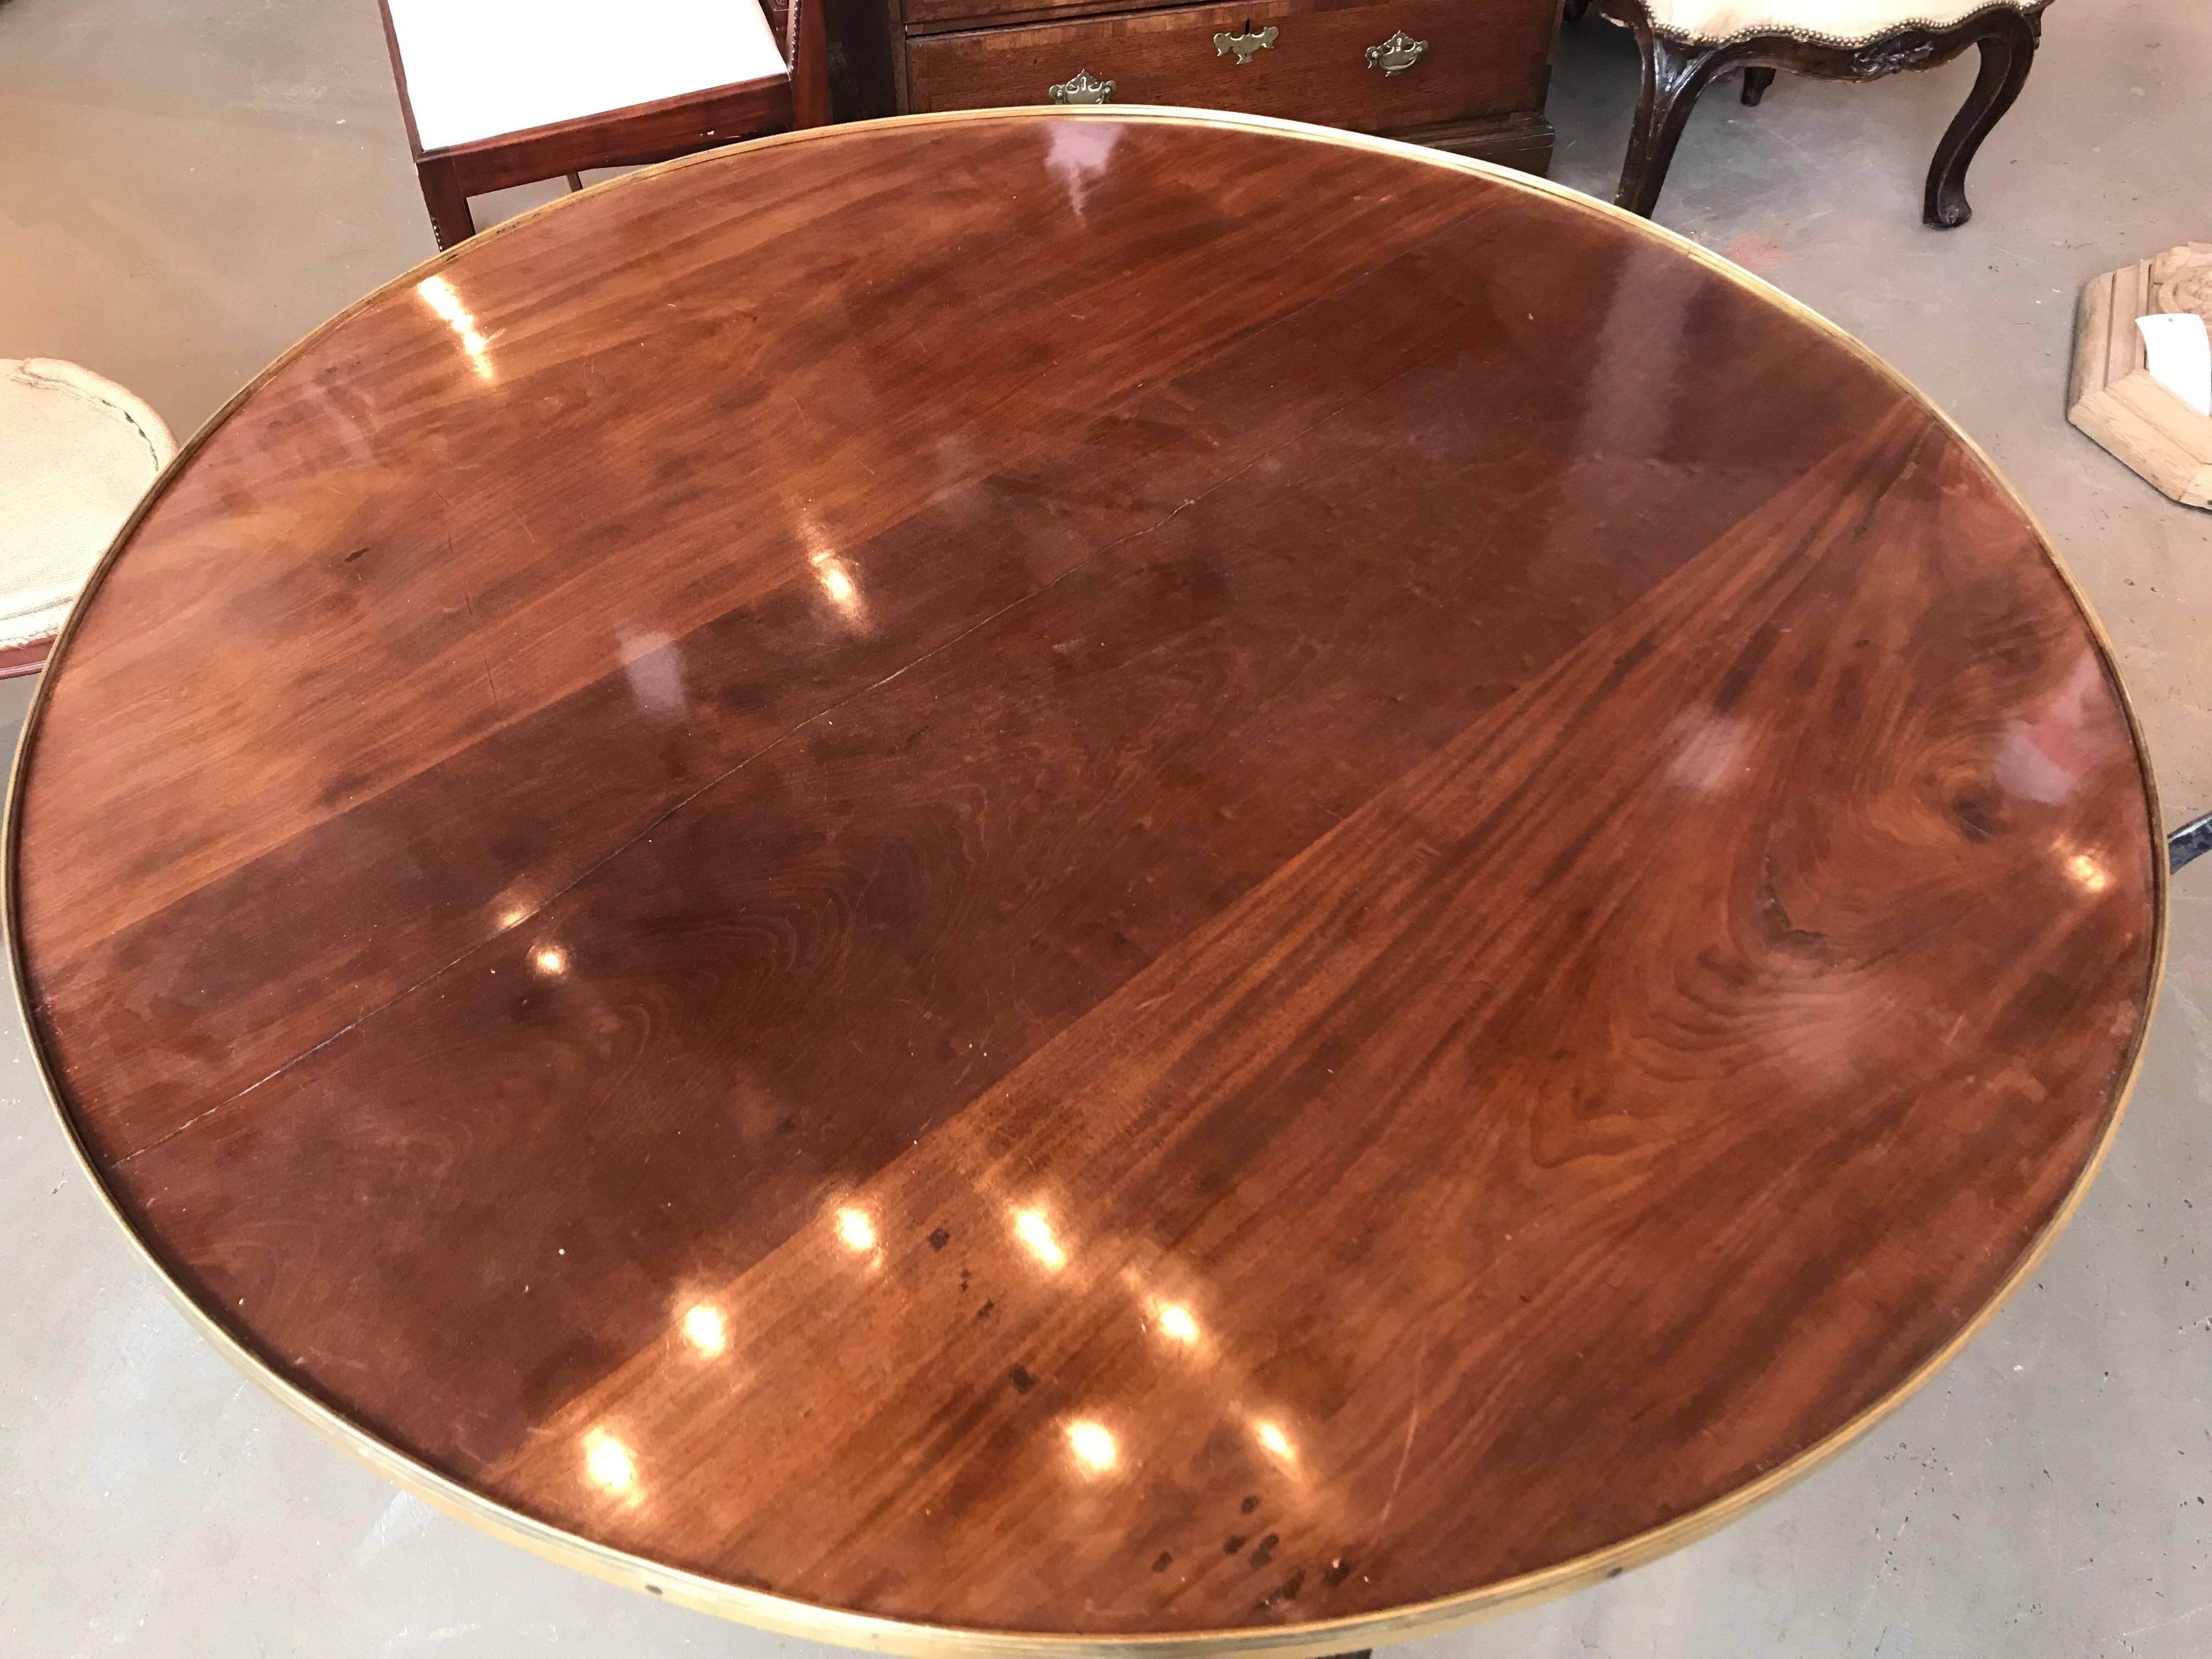
M440 248L487 190L830 119L821 0L378 4Z

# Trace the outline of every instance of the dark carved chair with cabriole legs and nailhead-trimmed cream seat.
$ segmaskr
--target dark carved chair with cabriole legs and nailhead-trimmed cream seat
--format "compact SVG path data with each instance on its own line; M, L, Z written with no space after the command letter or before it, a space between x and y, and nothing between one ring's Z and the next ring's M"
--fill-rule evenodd
M1980 46L1982 73L1936 146L1920 215L1944 230L1962 226L1973 217L1966 206L1966 168L2028 80L2046 4L2048 0L1599 0L1606 20L1635 31L1637 46L1644 49L1644 93L1615 201L1650 217L1690 106L1714 77L1732 69L1743 71L1743 102L1756 104L1776 69L1820 80L1880 80L1900 69L1933 69L1966 46ZM1568 18L1579 18L1586 7L1588 0L1568 0Z

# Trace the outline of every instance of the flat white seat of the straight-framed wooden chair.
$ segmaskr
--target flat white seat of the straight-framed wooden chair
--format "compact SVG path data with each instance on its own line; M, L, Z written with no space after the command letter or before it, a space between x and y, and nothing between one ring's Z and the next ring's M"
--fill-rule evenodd
M759 0L387 0L425 150L787 75Z

